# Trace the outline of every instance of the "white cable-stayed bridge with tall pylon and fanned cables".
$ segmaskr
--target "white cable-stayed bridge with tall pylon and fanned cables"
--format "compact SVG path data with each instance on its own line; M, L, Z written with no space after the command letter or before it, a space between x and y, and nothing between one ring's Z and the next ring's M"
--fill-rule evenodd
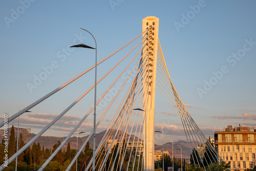
M11 156L8 159L8 163L15 160L19 154L24 152L25 149L30 146L38 137L44 134L52 125L54 125L56 121L58 121L71 108L73 108L73 106L77 104L79 100L81 100L83 97L86 97L90 91L94 89L96 94L96 85L100 84L102 80L105 79L111 72L115 72L115 69L120 66L120 63L127 60L129 62L125 63L125 65L122 65L122 71L120 73L116 73L116 78L111 80L111 85L105 88L104 93L99 99L95 100L95 105L87 112L86 115L84 115L84 117L74 127L67 138L58 146L54 153L52 153L48 160L42 166L40 166L38 170L43 170L47 166L51 159L57 154L61 147L68 142L69 138L74 134L79 126L86 119L88 119L88 116L92 114L92 112L94 112L94 114L96 113L97 105L110 92L110 90L112 90L114 86L119 83L117 81L129 67L132 68L129 76L127 76L122 84L118 84L118 89L116 89L110 104L108 104L108 107L105 109L103 114L97 115L97 119L99 120L97 123L95 123L95 130L97 129L97 126L101 124L103 118L110 113L109 110L113 103L118 103L118 108L115 109L116 112L114 117L111 120L111 123L109 124L108 129L106 130L97 148L94 148L95 155L91 161L87 163L86 170L154 170L154 121L156 93L160 93L166 99L169 105L172 106L174 110L180 115L190 152L197 153L199 156L198 157L192 155L194 163L206 169L205 166L202 165L202 159L212 159L205 160L206 165L208 166L212 162L218 162L222 160L218 153L215 151L214 147L200 131L196 122L189 115L185 105L183 104L174 87L172 80L170 79L160 41L158 39L158 27L158 18L154 16L144 18L142 20L142 33L140 35L135 37L133 40L128 42L126 45L111 55L97 62L97 65L92 66L59 88L33 102L25 109L9 117L8 122L27 112L40 102L49 98L51 95L57 93L59 90L67 87L70 83L85 75L98 65L101 65L101 63L104 63L107 59L111 58L116 53L120 53L122 49L126 48L135 40L141 39L140 42L131 51L124 55L119 61L116 61L116 63L113 64L113 67L109 71L106 71L106 73L99 79L95 79L95 83L91 86L91 88L89 88L79 98L71 103L67 109L61 112L35 137L33 137L28 143L20 148L17 153ZM132 76L133 73L136 74ZM125 90L125 86L129 88ZM122 96L122 100L117 100L120 99L118 98L120 96ZM96 117L96 115L94 116ZM1 127L3 125L4 122L1 123ZM92 130L89 137L83 143L66 170L69 170L71 166L76 162L77 157L86 146L90 137L94 137L95 130ZM134 137L131 137L132 134ZM202 144L205 143L206 146L202 146ZM195 149L195 146L199 146L199 148ZM204 155L200 152L208 153ZM3 170L5 167L6 164L4 163L0 167L0 170Z

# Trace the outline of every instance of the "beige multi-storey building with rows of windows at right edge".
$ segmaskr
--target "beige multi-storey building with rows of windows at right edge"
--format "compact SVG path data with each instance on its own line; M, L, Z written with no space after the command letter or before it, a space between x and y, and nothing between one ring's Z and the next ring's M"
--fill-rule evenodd
M223 132L215 132L215 145L221 158L230 161L231 170L255 166L256 128L228 125Z

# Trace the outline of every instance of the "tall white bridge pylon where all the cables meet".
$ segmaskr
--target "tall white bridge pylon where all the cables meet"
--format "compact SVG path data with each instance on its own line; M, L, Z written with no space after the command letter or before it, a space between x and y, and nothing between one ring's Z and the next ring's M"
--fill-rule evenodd
M145 104L146 119L144 122L143 129L143 142L144 142L144 170L154 171L155 170L155 89L156 89L156 69L157 69L157 44L158 44L158 23L159 18L155 16L148 16L142 20L142 31L151 28L148 33L150 34L148 38L148 44L150 47L148 49L143 49L148 51L147 56L145 56L147 62L143 66L146 71L143 74L143 102ZM144 35L145 35L144 34ZM144 37L143 35L143 37ZM147 41L147 40L146 40ZM144 42L144 44L146 43ZM143 45L144 45L143 44ZM146 48L147 46L145 46Z

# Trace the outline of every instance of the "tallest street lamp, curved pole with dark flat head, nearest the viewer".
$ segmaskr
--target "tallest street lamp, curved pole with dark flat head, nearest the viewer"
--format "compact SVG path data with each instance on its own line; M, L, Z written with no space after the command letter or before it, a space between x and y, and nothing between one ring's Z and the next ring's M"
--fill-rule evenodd
M82 28L80 28L82 29ZM84 31L87 31L86 29L82 29ZM92 35L92 33L90 33ZM93 36L93 35L92 35ZM96 50L96 55L95 55L95 86L94 86L94 119L93 119L93 171L95 171L95 137L96 137L96 86L97 86L97 43L96 40L93 36L93 39L95 41L95 48L92 48L90 46L84 45L84 44L79 44L79 45L74 45L71 46L71 48L89 48L89 49L95 49Z

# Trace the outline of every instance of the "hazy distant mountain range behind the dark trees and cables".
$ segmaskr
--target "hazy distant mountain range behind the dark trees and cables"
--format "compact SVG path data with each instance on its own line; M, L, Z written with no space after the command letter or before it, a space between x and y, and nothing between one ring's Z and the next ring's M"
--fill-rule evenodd
M17 127L14 127L15 129L15 136L17 136ZM11 128L8 129L8 133L11 132ZM19 133L22 132L24 134L24 130L23 129L19 129ZM96 146L100 143L101 138L104 136L105 131L100 132L98 134L96 134ZM36 134L31 133L31 135L28 137L28 141L31 140ZM129 135L128 135L129 136ZM4 138L4 130L0 130L0 139L2 140ZM44 146L44 148L53 148L53 145L55 143L57 143L58 140L60 140L60 142L62 142L63 140L65 140L66 137L54 137L54 136L40 136L37 140L35 140L35 143L37 144L38 142L40 143L41 147ZM81 147L83 142L88 138L88 136L84 136L84 137L78 137L78 147ZM134 137L134 135L131 135L132 139L137 140L137 137ZM68 142L70 142L70 146L72 149L76 149L76 142L77 142L77 137L73 136L70 137ZM67 145L68 142L63 145L62 148L64 148L65 150L67 149ZM90 143L90 147L93 147L93 137L91 137L89 139L89 143ZM197 143L196 143L197 144ZM32 147L33 144L31 144ZM190 158L190 148L189 145L186 141L177 141L174 142L174 157L175 158L180 158L181 157L181 153L180 153L180 147L178 146L180 145L182 148L182 158L184 158L184 152L186 154L187 158ZM161 151L162 152L162 145L157 145L155 144L155 151ZM164 144L164 151L168 151L170 154L170 157L172 157L172 144L169 143L165 143Z

